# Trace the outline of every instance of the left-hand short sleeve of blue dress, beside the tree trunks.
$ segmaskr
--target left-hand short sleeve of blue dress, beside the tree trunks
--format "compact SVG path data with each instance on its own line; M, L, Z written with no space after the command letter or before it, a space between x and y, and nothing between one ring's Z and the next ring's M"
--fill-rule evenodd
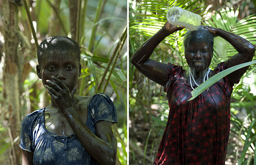
M21 122L21 134L19 147L25 151L33 153L32 140L31 140L31 125L32 121L29 115L26 115Z

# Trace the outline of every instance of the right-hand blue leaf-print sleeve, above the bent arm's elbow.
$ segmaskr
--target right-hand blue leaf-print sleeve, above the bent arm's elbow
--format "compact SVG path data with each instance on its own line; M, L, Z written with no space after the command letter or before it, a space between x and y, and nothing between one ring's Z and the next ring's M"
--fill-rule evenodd
M90 103L90 115L92 116L93 123L100 120L110 121L117 123L117 112L113 101L104 93L95 94Z

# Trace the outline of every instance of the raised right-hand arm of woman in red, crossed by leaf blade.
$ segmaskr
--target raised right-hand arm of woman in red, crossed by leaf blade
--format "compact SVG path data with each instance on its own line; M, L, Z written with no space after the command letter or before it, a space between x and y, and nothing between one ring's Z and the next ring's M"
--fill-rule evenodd
M209 26L204 27L214 36L220 36L226 41L228 41L237 50L238 53L232 56L230 59L228 59L228 68L252 60L255 52L255 47L251 44L251 42L245 40L244 38L238 35L235 35L228 31L224 31L220 28L213 28ZM228 75L229 80L232 83L237 82L237 80L239 80L242 77L242 75L247 71L248 67L249 66L230 73Z

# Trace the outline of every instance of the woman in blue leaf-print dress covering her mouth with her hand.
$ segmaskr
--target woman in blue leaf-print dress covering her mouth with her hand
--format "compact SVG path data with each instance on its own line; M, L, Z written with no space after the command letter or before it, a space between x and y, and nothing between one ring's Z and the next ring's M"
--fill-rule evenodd
M75 94L81 74L78 43L64 36L45 39L36 70L51 103L22 120L22 164L116 164L113 102L103 93Z

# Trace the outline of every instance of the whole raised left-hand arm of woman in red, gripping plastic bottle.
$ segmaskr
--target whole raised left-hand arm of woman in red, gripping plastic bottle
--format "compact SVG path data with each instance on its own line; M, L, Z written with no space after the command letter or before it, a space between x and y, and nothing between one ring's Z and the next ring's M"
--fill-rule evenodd
M171 33L181 30L183 27L173 26L166 22L155 35L146 40L133 54L131 63L147 78L154 82L165 85L166 84L166 69L167 64L149 59L155 47Z

